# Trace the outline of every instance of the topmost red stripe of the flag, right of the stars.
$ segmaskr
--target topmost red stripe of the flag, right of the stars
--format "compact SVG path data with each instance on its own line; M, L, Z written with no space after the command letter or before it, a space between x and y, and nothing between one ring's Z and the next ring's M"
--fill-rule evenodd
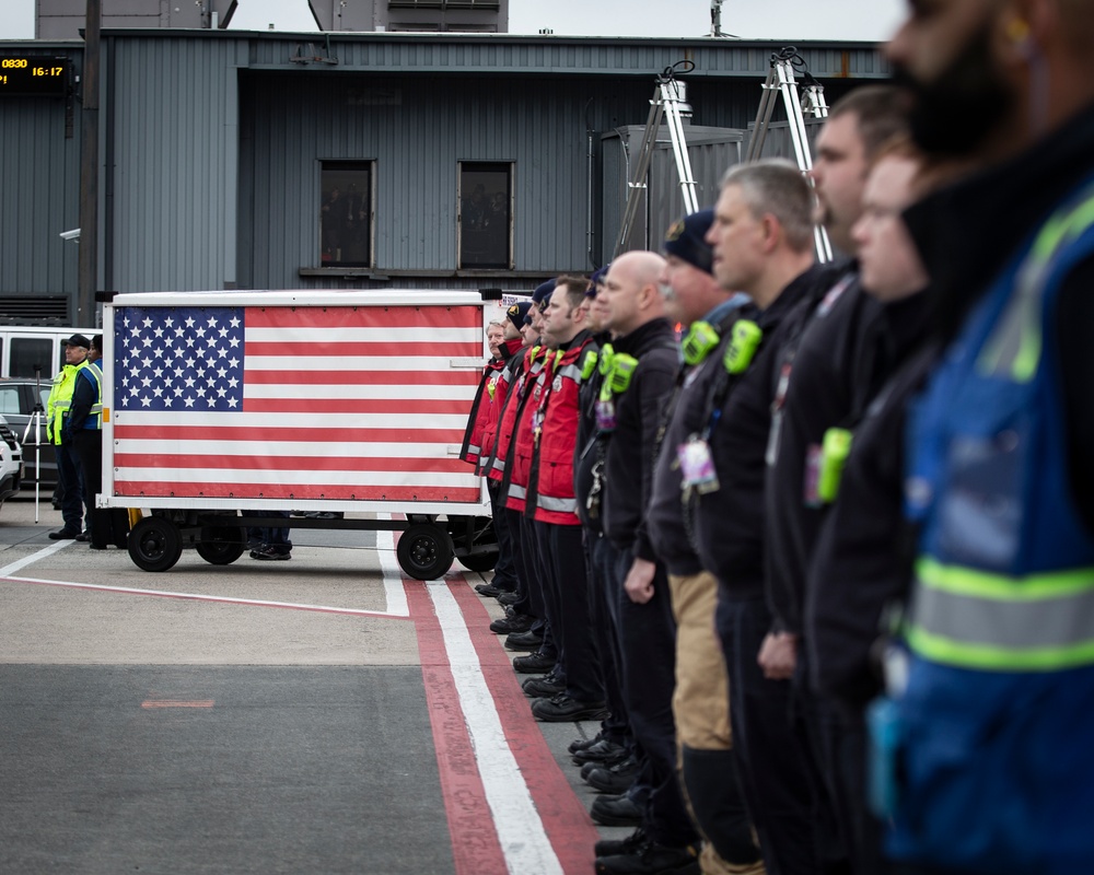
M477 306L330 306L247 307L248 328L420 328L428 339L437 328L482 328L482 310Z

